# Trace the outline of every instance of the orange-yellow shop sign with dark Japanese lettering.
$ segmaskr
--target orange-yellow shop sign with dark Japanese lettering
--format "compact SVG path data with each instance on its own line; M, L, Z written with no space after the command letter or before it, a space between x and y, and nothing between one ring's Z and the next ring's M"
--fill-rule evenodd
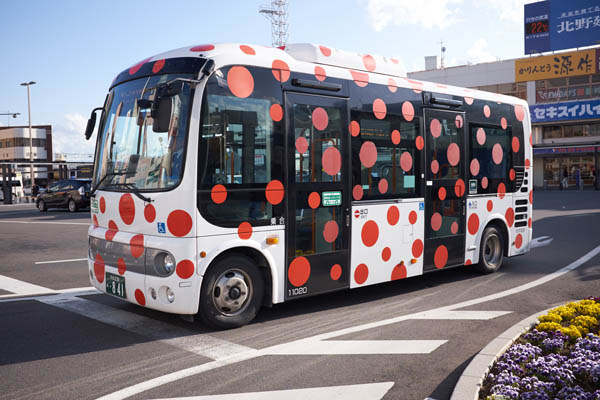
M596 64L595 49L522 58L515 60L515 82L595 74Z

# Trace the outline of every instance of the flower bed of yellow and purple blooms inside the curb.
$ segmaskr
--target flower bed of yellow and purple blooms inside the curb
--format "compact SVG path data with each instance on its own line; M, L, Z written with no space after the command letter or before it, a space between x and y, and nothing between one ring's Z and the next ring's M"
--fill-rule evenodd
M600 400L600 298L554 308L498 358L486 400Z

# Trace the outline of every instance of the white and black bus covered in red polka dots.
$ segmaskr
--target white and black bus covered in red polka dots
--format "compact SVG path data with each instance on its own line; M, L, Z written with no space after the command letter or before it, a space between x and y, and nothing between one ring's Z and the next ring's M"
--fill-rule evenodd
M527 103L325 46L199 45L121 72L89 229L100 291L217 328L528 251Z

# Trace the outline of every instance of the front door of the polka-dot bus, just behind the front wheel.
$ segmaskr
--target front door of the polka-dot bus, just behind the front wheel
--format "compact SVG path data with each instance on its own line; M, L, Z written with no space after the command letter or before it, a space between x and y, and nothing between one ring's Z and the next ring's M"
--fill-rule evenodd
M349 286L348 101L285 92L285 298Z

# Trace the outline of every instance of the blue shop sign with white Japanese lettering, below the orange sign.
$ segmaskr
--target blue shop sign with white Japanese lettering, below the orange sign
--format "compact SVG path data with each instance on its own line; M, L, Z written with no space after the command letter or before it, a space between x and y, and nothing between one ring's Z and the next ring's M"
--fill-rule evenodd
M553 122L600 118L600 100L529 106L531 122Z

